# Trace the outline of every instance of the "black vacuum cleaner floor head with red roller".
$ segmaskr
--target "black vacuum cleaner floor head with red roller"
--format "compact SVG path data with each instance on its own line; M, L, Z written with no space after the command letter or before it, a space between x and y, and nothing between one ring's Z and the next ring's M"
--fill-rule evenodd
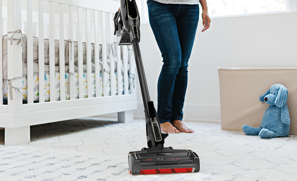
M165 147L162 150L146 150L130 152L128 156L129 173L166 174L199 172L198 155L191 150L174 150Z

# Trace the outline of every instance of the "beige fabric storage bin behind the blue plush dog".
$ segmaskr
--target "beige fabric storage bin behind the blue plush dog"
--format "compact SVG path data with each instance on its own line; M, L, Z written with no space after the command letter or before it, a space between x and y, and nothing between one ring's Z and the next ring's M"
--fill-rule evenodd
M269 106L259 101L273 84L289 92L290 134L297 134L297 68L218 68L221 103L221 128L242 131L248 124L259 127Z

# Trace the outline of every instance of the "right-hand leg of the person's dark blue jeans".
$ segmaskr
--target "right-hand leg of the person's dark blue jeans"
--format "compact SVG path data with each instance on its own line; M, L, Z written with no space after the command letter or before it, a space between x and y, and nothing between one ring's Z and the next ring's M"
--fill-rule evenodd
M182 120L184 98L188 81L188 60L194 44L195 34L199 20L199 5L182 5L176 17L178 36L181 46L181 66L175 78L172 96L172 116L174 120Z

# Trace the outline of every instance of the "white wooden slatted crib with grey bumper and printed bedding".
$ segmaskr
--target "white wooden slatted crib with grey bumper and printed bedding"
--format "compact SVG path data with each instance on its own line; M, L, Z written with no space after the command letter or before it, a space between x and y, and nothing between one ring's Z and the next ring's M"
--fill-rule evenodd
M0 0L0 7L0 34L7 34L0 39L0 127L5 128L5 145L30 142L31 125L115 112L118 122L133 119L134 57L128 46L115 46L113 35L119 2ZM2 59L6 55L7 67ZM60 76L57 82L58 74L68 79Z

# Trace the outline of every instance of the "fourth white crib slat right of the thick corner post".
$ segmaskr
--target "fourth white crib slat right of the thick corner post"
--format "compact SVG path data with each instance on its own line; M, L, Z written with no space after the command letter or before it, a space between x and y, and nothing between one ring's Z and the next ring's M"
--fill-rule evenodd
M59 4L59 70L60 70L60 100L64 101L65 96L65 47L64 47L64 4Z

